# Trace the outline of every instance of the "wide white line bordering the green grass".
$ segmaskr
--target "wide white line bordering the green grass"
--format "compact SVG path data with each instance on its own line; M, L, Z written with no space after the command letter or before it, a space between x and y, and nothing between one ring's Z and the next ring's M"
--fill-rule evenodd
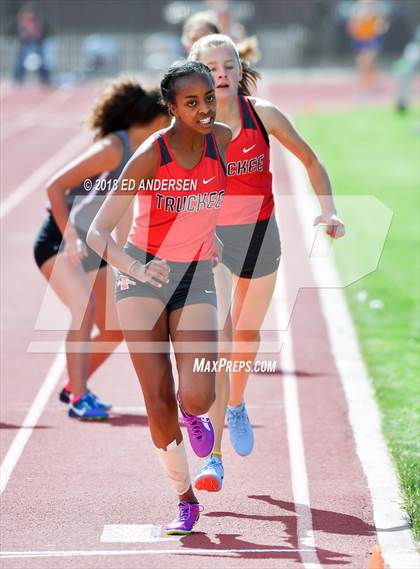
M310 200L307 199L309 190L306 174L300 162L288 152L285 153L285 158L298 204L301 230L309 251L313 243L312 222L319 212L316 207L311 208ZM319 233L321 238L321 232ZM319 284L326 281L340 283L340 277L332 259L329 263L324 259L322 274L318 265L312 263L312 272L318 283L329 342L347 399L357 454L372 496L382 554L390 569L419 569L420 556L406 516L400 509L402 497L398 478L382 434L380 414L346 299L341 288L321 288Z

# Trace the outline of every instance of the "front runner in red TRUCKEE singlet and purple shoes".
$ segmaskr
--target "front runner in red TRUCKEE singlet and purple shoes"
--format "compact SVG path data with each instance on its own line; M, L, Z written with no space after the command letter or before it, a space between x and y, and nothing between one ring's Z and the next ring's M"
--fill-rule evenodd
M210 70L201 63L174 64L161 83L173 122L142 144L96 216L88 243L120 270L120 324L147 408L153 443L179 496L169 534L188 534L199 518L178 424L169 357L174 346L178 403L191 446L207 456L214 433L199 417L214 401L213 371L195 371L195 360L217 359L216 291L212 271L215 228L226 174L228 127L215 124ZM220 154L219 154L220 150ZM138 216L122 250L111 231L138 196ZM210 365L208 367L211 367Z

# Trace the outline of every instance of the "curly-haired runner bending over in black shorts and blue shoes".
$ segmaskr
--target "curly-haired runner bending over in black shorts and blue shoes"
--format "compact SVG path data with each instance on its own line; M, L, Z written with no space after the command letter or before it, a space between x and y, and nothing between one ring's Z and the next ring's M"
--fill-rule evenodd
M105 91L90 117L92 146L47 185L48 217L35 241L36 263L71 313L66 338L68 379L60 401L69 416L107 419L110 404L87 389L87 380L122 340L113 298L114 274L86 245L86 234L133 151L168 123L158 90L122 80ZM129 218L119 226L125 242ZM94 324L99 333L91 337ZM99 352L105 343L107 349ZM91 348L93 348L91 353Z

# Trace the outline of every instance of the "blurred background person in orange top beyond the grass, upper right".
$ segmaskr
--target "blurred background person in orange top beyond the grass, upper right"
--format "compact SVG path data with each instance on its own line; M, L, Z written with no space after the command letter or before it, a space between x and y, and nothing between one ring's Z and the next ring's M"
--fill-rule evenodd
M361 94L377 86L376 60L389 24L383 2L356 0L350 10L347 30L353 40Z

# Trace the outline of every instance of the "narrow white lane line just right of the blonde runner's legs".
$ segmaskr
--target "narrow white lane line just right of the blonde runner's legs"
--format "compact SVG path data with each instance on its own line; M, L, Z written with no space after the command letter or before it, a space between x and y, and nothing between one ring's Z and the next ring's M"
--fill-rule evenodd
M278 275L279 289L286 290L284 263L280 264ZM286 322L290 315L287 302L277 301L277 312L280 322ZM293 501L297 518L298 547L301 550L301 560L305 569L319 569L319 561L315 535L312 525L311 503L309 495L308 474L306 470L305 448L303 445L302 425L300 419L299 395L296 369L293 357L293 339L289 331L279 332L282 340L281 365L289 370L282 377L284 411L286 415L287 442L289 446L290 470L293 490Z

